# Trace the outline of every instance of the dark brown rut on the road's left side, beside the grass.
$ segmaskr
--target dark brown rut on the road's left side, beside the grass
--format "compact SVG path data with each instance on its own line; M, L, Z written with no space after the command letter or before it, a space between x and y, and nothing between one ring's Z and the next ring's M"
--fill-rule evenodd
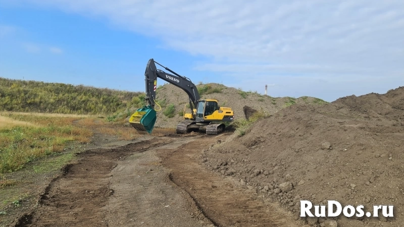
M109 188L111 171L118 160L167 139L141 141L114 149L93 149L77 154L78 163L68 164L38 200L38 207L21 216L14 226L108 226L105 206L114 193Z

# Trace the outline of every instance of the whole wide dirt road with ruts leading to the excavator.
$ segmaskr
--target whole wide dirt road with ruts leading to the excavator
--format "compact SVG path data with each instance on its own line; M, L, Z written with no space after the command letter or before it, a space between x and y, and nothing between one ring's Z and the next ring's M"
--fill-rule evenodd
M199 163L217 139L159 137L82 152L14 226L299 226Z

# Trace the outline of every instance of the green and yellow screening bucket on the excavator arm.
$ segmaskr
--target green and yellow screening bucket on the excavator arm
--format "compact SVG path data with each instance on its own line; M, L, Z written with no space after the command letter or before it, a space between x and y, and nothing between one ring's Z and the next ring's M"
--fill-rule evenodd
M156 119L156 110L149 106L143 106L143 108L137 109L129 118L129 124L137 131L148 132L150 134L153 131Z

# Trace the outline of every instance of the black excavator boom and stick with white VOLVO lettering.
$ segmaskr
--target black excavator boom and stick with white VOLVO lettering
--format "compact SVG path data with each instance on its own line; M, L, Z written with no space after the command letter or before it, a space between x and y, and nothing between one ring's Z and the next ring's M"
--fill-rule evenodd
M144 72L145 82L146 82L146 102L155 109L155 98L156 98L156 88L157 88L157 78L161 78L168 83L171 83L182 90L184 90L189 96L189 105L192 109L192 103L196 108L197 101L199 100L199 93L196 89L196 86L191 82L190 79L180 76L174 71L170 70L167 67L163 67L165 70L171 72L172 74L166 73L162 70L156 68L156 64L160 65L159 63L155 62L153 59L150 59L147 63L146 70Z

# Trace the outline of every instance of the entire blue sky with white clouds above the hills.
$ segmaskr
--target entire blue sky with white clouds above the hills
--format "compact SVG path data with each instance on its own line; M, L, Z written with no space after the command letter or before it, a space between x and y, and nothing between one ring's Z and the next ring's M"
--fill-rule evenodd
M0 0L0 77L143 91L150 58L275 97L385 93L404 86L404 2Z

